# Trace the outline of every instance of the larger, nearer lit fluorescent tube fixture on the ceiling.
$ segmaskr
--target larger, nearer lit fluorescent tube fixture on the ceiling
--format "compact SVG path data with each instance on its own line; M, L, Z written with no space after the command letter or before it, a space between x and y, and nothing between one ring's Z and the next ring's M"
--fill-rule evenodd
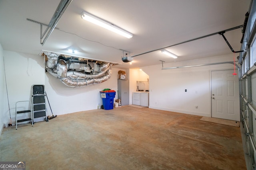
M106 28L106 29L108 29L110 31L118 33L118 34L120 34L120 35L122 35L122 36L124 36L126 38L132 38L132 34L131 33L125 31L124 29L121 29L121 28L115 26L112 23L108 23L107 21L104 21L104 20L102 20L102 19L100 19L100 18L98 18L98 17L96 17L96 16L94 16L92 14L89 14L87 12L82 12L81 18L86 20L86 21L90 21L90 22L92 22L92 23L94 23L96 25L99 25L101 27L104 27L104 28Z

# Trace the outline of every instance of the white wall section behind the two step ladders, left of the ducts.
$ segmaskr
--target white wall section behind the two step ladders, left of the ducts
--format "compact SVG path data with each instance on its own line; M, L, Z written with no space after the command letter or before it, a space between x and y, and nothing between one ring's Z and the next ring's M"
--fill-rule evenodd
M4 51L6 84L12 124L15 125L15 104L31 100L31 86L44 84L44 58L38 55ZM20 105L23 107L23 104ZM24 104L28 106L27 104ZM9 123L8 104L4 110L4 123ZM22 119L22 118L21 118Z

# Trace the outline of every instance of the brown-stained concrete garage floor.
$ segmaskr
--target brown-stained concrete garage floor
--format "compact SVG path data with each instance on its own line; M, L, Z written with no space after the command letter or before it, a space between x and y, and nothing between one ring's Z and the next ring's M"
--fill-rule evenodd
M0 161L27 170L245 170L240 128L123 106L4 128Z

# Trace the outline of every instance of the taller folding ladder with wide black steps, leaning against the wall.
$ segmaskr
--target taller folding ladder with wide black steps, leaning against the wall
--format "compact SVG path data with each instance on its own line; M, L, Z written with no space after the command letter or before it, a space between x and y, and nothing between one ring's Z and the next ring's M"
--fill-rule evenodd
M48 121L45 106L44 85L32 86L33 121Z

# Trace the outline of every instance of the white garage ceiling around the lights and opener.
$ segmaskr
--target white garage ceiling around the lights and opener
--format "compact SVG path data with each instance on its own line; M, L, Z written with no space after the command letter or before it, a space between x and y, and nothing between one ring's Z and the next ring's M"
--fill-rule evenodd
M46 43L40 44L40 25L48 25L60 0L0 0L0 43L4 50L40 55L41 50L121 63L118 68L231 54L220 35L170 47L172 59L155 51L123 63L123 50L138 55L196 37L243 25L250 0L73 0ZM131 39L81 19L83 11L107 20L133 34ZM43 26L43 31L46 27ZM241 29L225 34L239 51Z

